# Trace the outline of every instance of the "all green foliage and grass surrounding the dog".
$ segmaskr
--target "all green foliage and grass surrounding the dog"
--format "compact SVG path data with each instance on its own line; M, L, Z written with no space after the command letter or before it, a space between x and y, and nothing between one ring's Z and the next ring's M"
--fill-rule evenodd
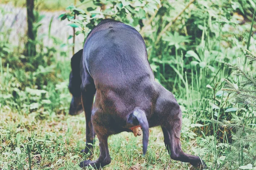
M21 1L13 2L23 6ZM83 40L105 18L133 26L145 40L156 81L172 91L181 105L183 150L200 156L209 169L256 169L256 67L255 62L244 61L246 53L250 59L256 54L253 0L72 3L35 1L35 28L44 26L40 10L64 8L59 19L68 20L75 36ZM8 15L0 9L3 16ZM74 34L63 42L50 34L59 29L51 23L47 23L49 34L37 33L34 56L23 55L22 46L8 37L13 30L4 22L1 26L2 169L79 169L78 162L87 159L79 152L85 146L83 115L67 115ZM25 35L19 37L21 42L24 39ZM83 41L76 48L82 45ZM148 154L142 158L140 138L128 133L111 136L112 162L106 169L128 169L134 164L142 169L187 169L188 164L170 161L159 128L151 130L149 143ZM92 159L99 155L97 146Z

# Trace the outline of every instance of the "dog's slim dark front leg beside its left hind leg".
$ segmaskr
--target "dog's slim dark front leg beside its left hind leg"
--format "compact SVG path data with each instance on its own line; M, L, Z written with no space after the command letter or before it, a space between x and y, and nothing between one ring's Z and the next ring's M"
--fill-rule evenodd
M93 98L96 92L96 88L92 77L88 72L85 72L84 82L81 84L81 100L84 108L85 119L86 119L86 146L81 152L93 153L93 144L95 139L95 132L91 122Z

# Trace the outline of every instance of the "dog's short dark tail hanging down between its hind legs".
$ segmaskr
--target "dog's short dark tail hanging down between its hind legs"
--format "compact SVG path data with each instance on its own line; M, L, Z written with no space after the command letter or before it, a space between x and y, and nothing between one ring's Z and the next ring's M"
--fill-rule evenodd
M143 130L143 156L145 156L148 148L148 131L149 131L149 125L148 120L145 114L145 111L143 111L140 108L135 108L133 113L131 113L127 118L127 124L128 125L140 125Z

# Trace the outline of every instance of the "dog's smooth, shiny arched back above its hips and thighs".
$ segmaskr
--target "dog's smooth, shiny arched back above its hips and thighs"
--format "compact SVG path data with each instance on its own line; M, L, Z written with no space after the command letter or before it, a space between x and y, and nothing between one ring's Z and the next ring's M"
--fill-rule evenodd
M131 26L103 20L84 44L84 62L96 88L124 88L140 79L154 79L145 42Z

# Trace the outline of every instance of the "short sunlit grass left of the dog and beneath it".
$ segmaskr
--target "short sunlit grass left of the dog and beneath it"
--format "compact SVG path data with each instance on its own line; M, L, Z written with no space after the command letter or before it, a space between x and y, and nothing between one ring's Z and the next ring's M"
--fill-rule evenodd
M4 109L6 110L6 109ZM80 169L78 164L89 157L80 153L85 146L84 115L65 116L53 114L49 119L39 119L38 113L20 115L12 111L0 112L0 166L3 170L9 167L28 169L27 147L31 150L32 169ZM111 164L106 170L124 170L140 164L142 169L187 169L189 164L170 160L163 143L163 134L159 127L151 128L148 152L142 156L142 137L132 133L120 133L110 136L109 150ZM99 156L99 142L96 139L94 155ZM184 140L183 150L193 153L195 140Z

